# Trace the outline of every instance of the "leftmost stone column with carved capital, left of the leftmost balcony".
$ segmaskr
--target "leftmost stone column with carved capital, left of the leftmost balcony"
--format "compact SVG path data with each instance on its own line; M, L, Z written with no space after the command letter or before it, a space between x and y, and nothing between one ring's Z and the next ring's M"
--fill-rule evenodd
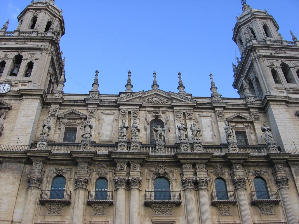
M28 174L28 192L21 224L34 223L35 211L40 196L39 186L42 184L44 174L43 166L42 161L34 161Z

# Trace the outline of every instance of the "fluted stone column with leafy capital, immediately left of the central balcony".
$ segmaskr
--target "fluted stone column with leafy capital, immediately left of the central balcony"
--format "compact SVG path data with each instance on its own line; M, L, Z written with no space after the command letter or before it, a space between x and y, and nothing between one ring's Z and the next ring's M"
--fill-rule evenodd
M129 210L129 224L140 223L140 187L141 177L128 177L126 182L129 183L130 188L130 210Z

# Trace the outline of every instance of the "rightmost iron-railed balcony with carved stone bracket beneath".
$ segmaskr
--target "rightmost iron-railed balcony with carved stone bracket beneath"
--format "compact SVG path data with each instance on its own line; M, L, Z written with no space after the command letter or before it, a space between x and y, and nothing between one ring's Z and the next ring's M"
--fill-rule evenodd
M257 205L262 214L273 214L273 205L281 199L278 191L251 191L251 204Z

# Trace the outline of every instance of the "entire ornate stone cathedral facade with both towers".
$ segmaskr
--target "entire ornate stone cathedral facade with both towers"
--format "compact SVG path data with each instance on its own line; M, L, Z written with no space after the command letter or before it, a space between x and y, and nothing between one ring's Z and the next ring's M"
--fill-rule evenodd
M66 94L54 0L0 30L0 224L298 224L299 41L242 2L241 98ZM21 144L22 143L22 144ZM290 146L294 145L294 148ZM297 144L298 145L298 144Z

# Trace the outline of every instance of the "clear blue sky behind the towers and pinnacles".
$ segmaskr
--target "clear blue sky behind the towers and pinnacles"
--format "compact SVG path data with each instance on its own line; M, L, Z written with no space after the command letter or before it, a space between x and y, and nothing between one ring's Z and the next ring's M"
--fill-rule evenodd
M16 16L30 0L1 2L0 24ZM65 93L88 93L99 70L101 94L124 91L131 70L133 91L150 90L152 73L159 89L178 92L178 72L185 91L210 96L210 72L222 97L239 97L231 86L232 62L240 57L232 41L240 1L200 0L55 0L63 9L66 33L60 47L65 61ZM299 39L298 0L248 0L267 9L284 39ZM297 16L296 16L297 15ZM73 81L75 80L75 81ZM80 83L80 84L78 84Z

